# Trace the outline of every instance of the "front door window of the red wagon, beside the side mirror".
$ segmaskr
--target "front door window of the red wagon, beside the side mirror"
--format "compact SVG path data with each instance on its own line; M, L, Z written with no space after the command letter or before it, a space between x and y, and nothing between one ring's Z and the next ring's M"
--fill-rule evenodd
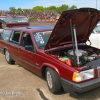
M25 47L26 45L33 46L33 43L32 43L30 33L23 32L22 33L22 39L21 39L21 46Z

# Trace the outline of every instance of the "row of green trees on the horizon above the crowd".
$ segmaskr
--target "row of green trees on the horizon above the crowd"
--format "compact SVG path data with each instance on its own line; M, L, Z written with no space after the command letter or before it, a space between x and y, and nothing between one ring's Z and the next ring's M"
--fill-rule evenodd
M50 7L36 6L36 7L33 7L32 9L21 9L21 8L16 9L15 7L10 7L9 8L10 11L16 11L16 12L20 12L20 11L32 11L32 10L33 11L51 10L51 11L57 12L59 14L61 14L65 10L69 10L69 9L77 9L77 7L75 5L72 5L71 7L69 7L66 4L62 4L59 7L56 7L56 6L50 6Z

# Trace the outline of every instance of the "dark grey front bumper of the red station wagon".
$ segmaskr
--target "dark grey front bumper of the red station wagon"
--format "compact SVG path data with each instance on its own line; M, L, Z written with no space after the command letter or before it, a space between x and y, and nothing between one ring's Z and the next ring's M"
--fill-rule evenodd
M83 93L100 86L100 78L92 79L83 83L73 83L61 78L62 87L65 92Z

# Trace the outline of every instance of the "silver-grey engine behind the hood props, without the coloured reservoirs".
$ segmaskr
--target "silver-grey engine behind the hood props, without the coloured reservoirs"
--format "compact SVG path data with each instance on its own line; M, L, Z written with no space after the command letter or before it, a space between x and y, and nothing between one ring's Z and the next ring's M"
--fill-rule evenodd
M73 50L68 50L67 52L67 56L69 59L71 59L71 63L73 66L74 65L74 53ZM76 56L76 51L75 51L75 56ZM78 49L78 55L79 57L79 64L80 67L84 66L87 62L90 62L92 60L96 59L97 54L93 53L91 50L82 50L82 49ZM77 58L76 58L76 62L77 62Z

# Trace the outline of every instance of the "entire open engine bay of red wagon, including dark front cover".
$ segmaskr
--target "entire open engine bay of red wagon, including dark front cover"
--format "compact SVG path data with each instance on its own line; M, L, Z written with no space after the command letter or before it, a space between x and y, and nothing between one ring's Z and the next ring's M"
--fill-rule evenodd
M71 67L75 67L76 61L76 68L79 70L84 70L86 68L96 68L100 66L100 51L91 47L79 47L78 55L75 51L75 56L79 57L79 64L77 61L77 57L75 58L76 60L74 60L74 53L72 48L53 51L51 56L68 64Z

